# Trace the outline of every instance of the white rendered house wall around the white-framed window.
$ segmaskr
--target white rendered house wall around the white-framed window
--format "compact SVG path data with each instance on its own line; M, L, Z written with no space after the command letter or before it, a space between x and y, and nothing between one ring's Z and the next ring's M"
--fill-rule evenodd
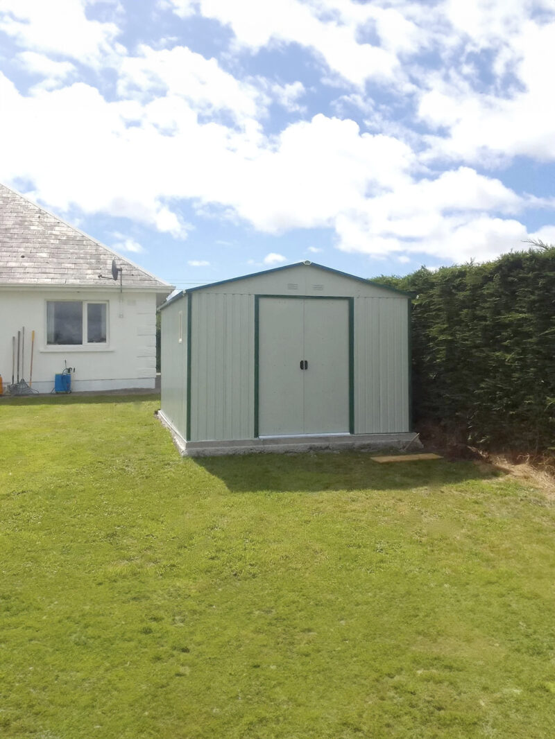
M46 344L48 300L107 301L108 341L92 347L49 347ZM35 331L33 388L50 392L54 375L75 367L74 390L153 388L156 378L156 293L127 288L111 290L83 288L0 289L0 374L11 382L12 337L25 327L24 367L20 378L29 381L31 331Z

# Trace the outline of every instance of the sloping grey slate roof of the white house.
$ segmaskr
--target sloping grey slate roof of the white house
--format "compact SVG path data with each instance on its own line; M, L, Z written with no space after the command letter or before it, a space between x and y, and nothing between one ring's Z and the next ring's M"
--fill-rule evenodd
M114 257L123 268L124 287L157 289L166 294L173 289L0 184L0 285L94 285L106 289L116 283L98 279L98 275L111 275Z

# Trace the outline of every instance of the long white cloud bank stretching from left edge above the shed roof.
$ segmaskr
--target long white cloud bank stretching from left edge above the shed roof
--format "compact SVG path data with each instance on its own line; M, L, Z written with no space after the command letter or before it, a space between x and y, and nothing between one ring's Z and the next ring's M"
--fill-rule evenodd
M2 77L0 95L12 113L0 118L0 139L26 142L4 152L1 176L32 180L55 210L78 205L185 238L190 226L176 205L192 199L267 233L333 228L339 248L374 256L466 259L526 237L512 216L527 201L499 180L468 167L417 180L406 144L361 133L351 120L317 115L266 139L248 125L201 125L182 99L167 108L166 98L107 102L84 84L26 98ZM168 135L160 126L170 123ZM75 177L74 161L86 177ZM265 264L282 261L269 254Z

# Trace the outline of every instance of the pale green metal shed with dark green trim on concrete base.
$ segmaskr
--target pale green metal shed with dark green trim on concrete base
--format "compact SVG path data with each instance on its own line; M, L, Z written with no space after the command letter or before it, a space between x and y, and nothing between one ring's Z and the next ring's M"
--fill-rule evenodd
M183 454L406 446L410 296L311 262L161 307L161 420Z

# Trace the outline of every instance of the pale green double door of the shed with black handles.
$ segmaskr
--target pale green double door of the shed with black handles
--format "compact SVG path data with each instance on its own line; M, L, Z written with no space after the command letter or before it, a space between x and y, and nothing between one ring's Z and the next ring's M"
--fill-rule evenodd
M258 434L348 433L348 300L261 297L258 316Z

